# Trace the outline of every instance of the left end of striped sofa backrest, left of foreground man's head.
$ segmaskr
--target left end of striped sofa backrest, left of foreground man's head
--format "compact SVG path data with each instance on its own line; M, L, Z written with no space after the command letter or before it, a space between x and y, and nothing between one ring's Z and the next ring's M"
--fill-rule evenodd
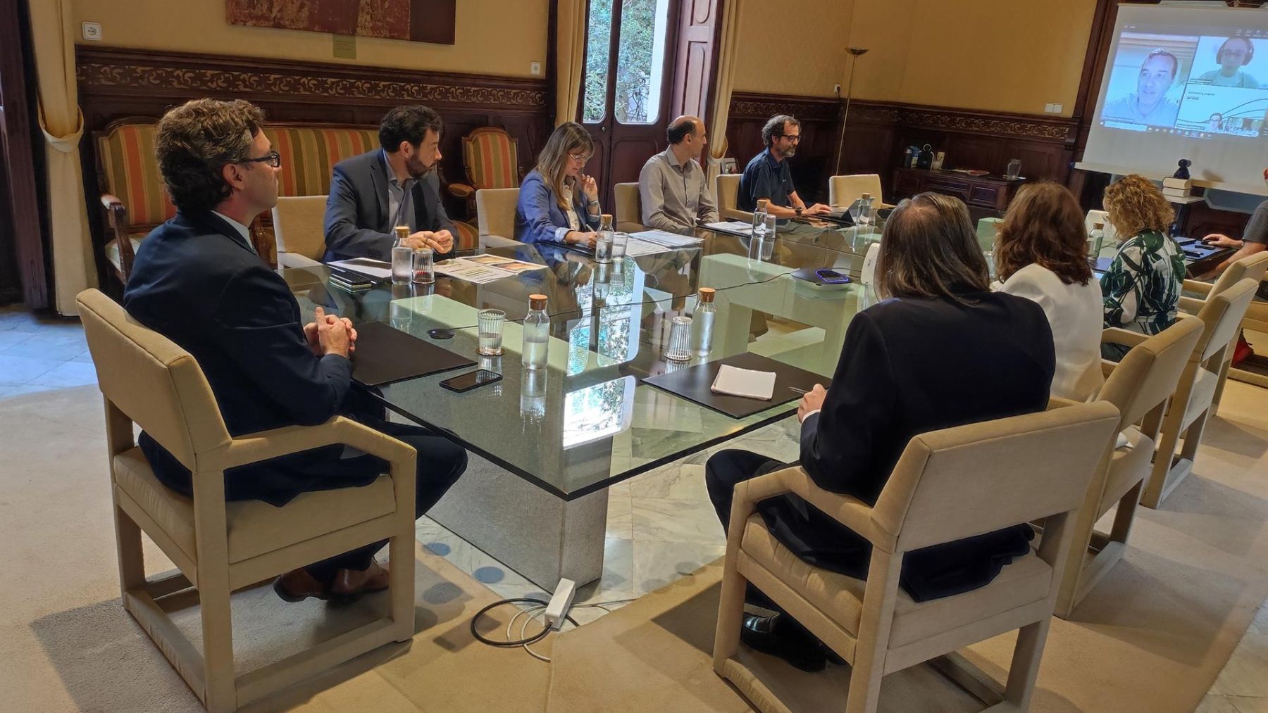
M98 138L105 190L123 201L131 225L157 225L176 214L155 161L155 125L124 124Z

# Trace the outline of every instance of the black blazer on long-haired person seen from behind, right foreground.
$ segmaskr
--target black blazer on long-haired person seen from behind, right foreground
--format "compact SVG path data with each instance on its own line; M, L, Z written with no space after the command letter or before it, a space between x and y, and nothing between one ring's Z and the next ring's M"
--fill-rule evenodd
M975 304L890 299L855 315L823 409L801 423L801 466L815 484L875 504L913 436L1047 407L1055 355L1044 310L1003 293L964 296ZM760 509L799 557L866 574L866 541L804 500ZM1030 537L1019 526L909 552L903 588L917 600L975 589Z

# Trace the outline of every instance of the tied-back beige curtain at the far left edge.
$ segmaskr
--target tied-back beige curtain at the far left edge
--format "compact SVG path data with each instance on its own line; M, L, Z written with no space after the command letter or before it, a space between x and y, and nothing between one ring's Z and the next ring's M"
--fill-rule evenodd
M47 144L53 296L57 312L71 315L77 314L75 295L96 286L79 156L84 115L75 86L71 0L37 0L28 6L39 85L39 127Z

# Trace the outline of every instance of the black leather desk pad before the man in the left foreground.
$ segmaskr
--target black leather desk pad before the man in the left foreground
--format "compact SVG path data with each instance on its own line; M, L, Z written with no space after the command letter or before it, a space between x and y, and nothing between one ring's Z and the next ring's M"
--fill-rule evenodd
M366 386L382 386L464 366L476 366L476 362L389 324L366 322L356 325L353 379Z

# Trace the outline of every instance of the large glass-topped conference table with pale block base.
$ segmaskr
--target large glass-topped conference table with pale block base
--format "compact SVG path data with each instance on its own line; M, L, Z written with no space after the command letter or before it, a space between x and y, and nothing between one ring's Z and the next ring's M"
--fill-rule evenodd
M382 285L351 295L325 267L281 270L304 320L317 305L354 323L383 322L467 356L502 380L464 394L440 381L453 370L385 385L394 420L446 434L470 455L467 474L429 513L443 526L552 590L602 572L607 488L787 418L798 401L746 418L710 410L643 379L744 352L824 375L836 369L851 317L870 304L857 281L820 294L791 276L832 267L857 280L877 228L780 225L773 248L748 257L749 239L702 232L690 248L596 263L557 246L495 238L482 253L544 267L484 285L437 279L434 287ZM708 357L663 357L671 318L689 314L699 287L716 290ZM424 294L426 293L426 294ZM547 295L548 369L525 370L520 344L529 295ZM477 355L476 313L506 312L500 357ZM772 328L773 327L773 328ZM429 331L448 328L451 339ZM355 358L355 357L354 357Z

